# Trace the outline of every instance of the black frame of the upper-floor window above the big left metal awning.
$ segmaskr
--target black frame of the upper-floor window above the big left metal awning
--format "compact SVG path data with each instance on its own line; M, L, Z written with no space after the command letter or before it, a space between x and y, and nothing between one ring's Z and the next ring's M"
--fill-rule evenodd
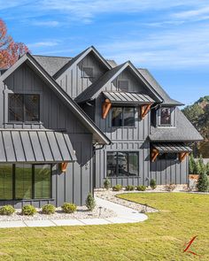
M15 95L18 95L18 96L22 96L22 111L23 111L23 115L22 115L22 120L14 120L14 119L10 119L10 103L11 103L11 100L10 100L10 97L11 96L15 96ZM25 103L25 100L26 100L26 97L27 96L38 96L38 119L36 120L26 120L27 118L27 112L26 112L26 103ZM41 119L41 96L40 94L37 94L37 93L9 93L8 94L8 122L26 122L26 123L35 123L35 122L40 122L40 119Z

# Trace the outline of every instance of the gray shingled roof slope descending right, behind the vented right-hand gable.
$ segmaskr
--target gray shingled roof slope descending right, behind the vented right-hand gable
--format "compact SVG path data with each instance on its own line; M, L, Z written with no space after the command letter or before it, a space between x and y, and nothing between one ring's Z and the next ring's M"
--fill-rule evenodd
M183 105L182 103L173 100L170 96L166 94L166 91L159 85L159 82L154 79L154 77L151 75L151 73L147 69L138 69L139 73L143 75L143 78L148 81L152 88L154 88L157 93L159 93L159 96L163 99L163 104L166 105Z

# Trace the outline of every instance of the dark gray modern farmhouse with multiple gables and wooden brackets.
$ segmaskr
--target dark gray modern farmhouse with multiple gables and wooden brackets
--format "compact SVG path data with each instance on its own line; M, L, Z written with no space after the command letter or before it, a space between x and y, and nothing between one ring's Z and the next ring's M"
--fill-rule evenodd
M0 73L0 204L84 204L115 184L188 182L202 136L146 69L89 47L19 58Z

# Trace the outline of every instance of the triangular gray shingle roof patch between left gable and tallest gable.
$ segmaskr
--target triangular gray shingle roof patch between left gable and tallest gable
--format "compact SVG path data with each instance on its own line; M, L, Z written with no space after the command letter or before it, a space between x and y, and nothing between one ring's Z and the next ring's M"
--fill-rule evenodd
M64 65L66 65L72 58L65 57L50 57L50 56L39 56L33 55L35 60L43 66L43 69L53 76L58 72Z

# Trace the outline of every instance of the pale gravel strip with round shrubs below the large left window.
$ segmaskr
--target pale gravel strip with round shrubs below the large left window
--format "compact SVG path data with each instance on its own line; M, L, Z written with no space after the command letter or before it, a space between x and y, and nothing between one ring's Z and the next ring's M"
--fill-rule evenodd
M24 221L24 220L46 220L46 219L107 219L116 217L116 214L105 208L98 208L96 206L94 211L88 211L85 206L78 206L77 211L72 214L65 213L61 208L57 208L56 212L51 215L42 213L41 209L36 209L37 213L34 216L24 216L21 210L16 210L12 216L0 215L0 221Z

